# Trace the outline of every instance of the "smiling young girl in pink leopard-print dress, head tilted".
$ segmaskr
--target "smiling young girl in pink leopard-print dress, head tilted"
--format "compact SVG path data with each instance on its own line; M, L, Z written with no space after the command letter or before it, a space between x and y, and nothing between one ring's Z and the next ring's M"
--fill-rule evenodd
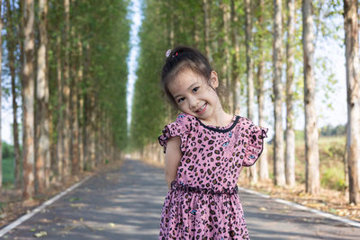
M257 161L267 129L222 110L217 73L196 49L168 50L161 83L183 113L158 138L169 188L159 239L249 239L238 174Z

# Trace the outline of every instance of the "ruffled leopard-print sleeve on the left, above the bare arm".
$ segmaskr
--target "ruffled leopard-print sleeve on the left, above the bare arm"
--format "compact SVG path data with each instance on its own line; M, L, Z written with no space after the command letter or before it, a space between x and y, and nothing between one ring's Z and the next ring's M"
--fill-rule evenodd
M167 124L163 129L163 134L158 137L160 146L164 147L164 153L166 153L166 144L169 138L179 136L181 139L180 150L182 153L185 151L187 136L191 129L191 118L187 114L179 114L176 120L170 124Z

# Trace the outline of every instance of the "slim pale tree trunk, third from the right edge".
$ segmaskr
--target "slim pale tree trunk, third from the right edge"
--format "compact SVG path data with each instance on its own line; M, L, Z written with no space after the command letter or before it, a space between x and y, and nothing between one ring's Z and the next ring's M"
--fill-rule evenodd
M287 1L287 43L286 43L286 183L295 186L295 131L293 129L293 76L294 76L294 55L293 46L295 43L295 0Z

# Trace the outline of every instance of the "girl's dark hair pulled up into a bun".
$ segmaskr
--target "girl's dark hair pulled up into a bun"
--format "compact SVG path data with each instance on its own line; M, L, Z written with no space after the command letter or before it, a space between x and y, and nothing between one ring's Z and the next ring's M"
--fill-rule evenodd
M197 49L185 46L177 46L166 53L166 62L161 74L161 86L167 99L177 108L173 95L168 90L167 84L184 69L190 69L194 73L209 81L211 66L209 60Z

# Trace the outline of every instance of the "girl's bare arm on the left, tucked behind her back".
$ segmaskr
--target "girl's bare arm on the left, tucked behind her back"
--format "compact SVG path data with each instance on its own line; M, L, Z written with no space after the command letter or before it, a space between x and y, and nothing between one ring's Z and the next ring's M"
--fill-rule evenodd
M167 188L171 188L171 182L176 178L177 167L179 166L183 154L180 150L180 137L169 138L166 145L165 154L165 179Z

